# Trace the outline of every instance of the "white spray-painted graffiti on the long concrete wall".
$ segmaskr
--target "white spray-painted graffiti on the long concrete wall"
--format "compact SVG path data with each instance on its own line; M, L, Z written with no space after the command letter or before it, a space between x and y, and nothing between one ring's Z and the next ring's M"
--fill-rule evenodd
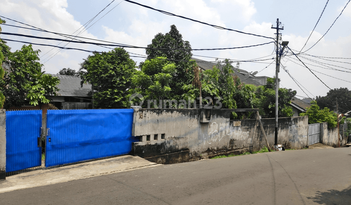
M247 140L249 138L249 131L242 131L241 126L237 127L230 122L212 123L209 127L209 132L203 134L204 144L220 142L224 137L230 137L235 140Z

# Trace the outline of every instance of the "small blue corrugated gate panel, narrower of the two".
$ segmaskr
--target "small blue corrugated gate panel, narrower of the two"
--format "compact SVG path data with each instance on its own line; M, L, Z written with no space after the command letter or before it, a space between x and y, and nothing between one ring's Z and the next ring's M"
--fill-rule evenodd
M6 111L6 172L41 165L41 112Z

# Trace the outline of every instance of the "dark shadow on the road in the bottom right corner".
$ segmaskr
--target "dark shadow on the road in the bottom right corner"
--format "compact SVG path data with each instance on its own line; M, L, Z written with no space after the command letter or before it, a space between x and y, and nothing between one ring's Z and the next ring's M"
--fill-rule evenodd
M351 186L338 191L331 189L325 192L317 191L314 197L307 197L313 202L323 205L350 205L351 204Z

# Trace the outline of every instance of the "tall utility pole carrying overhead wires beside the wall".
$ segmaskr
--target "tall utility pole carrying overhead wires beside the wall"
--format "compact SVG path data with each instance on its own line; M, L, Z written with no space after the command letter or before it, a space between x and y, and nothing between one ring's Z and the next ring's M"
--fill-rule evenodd
M275 41L275 48L276 48L276 60L275 60L275 129L274 129L274 145L278 144L278 89L279 89L279 79L278 79L278 73L279 73L279 30L284 30L284 26L282 28L279 28L279 19L276 21L277 25L276 27L273 27L273 29L276 29L276 41Z

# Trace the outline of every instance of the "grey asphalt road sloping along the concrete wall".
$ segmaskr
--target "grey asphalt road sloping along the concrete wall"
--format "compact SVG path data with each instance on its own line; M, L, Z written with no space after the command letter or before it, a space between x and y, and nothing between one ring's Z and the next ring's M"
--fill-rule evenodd
M161 165L0 194L1 205L351 205L351 147Z

